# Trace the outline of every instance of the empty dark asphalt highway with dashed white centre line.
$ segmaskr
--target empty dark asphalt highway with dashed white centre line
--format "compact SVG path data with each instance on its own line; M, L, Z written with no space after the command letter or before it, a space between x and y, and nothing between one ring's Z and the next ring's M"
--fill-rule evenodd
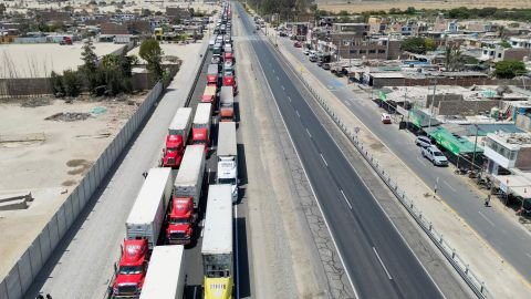
M253 25L237 4L248 33ZM252 45L360 298L442 298L269 43Z

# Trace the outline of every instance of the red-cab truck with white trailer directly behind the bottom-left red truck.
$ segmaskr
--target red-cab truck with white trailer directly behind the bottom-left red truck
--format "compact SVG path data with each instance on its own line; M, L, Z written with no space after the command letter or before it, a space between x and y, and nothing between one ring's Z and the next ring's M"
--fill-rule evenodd
M168 127L166 136L166 148L163 150L160 165L163 167L177 168L180 165L185 146L188 140L188 133L191 125L191 109L181 107L177 110Z

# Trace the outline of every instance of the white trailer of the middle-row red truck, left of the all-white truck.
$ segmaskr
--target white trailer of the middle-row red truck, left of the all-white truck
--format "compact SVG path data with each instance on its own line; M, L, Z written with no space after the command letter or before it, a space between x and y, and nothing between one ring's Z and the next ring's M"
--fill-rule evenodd
M197 207L201 195L204 174L205 145L188 145L174 182L174 196L194 197L194 205Z

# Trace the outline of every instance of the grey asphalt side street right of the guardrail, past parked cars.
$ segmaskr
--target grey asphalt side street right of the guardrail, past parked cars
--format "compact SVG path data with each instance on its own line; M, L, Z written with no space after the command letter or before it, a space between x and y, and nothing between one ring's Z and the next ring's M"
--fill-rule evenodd
M509 261L523 277L531 277L531 235L518 223L508 219L496 208L483 207L483 199L446 167L434 167L423 158L419 148L407 131L389 130L379 122L376 104L363 95L356 94L332 73L308 60L292 41L278 39L305 69L312 72L327 89L337 96L393 153L410 167L428 186L435 186L439 179L437 194L501 257ZM497 199L494 199L497 200Z

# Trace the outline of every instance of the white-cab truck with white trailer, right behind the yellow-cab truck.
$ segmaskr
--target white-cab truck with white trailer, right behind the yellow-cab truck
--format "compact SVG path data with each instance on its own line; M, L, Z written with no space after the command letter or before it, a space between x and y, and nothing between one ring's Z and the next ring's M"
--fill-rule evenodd
M238 147L236 123L221 122L218 131L218 184L232 186L232 202L238 200Z

